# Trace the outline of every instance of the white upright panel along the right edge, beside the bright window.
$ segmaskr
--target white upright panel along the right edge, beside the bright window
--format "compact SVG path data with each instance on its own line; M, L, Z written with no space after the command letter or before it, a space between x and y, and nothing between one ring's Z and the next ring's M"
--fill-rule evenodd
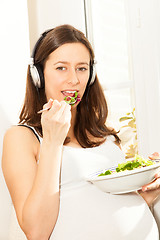
M139 152L160 152L160 2L126 0Z

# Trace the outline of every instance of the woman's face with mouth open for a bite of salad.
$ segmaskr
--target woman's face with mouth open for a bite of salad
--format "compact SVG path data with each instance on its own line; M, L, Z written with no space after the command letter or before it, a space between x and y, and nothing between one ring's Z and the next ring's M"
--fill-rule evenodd
M82 98L90 73L90 54L82 43L66 43L52 52L44 66L45 93L58 101L73 96Z

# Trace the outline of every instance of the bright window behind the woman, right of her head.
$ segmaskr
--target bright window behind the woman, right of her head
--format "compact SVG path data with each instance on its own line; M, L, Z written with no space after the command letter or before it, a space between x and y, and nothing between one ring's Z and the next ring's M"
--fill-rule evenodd
M109 105L109 121L119 130L119 118L134 106L124 0L85 0L87 37L93 45L97 74Z

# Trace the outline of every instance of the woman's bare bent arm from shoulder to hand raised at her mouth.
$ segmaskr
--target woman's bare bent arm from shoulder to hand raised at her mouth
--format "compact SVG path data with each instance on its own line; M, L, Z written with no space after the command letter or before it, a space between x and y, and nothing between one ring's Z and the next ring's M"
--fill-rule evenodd
M56 224L62 146L70 117L65 103L54 103L43 113L41 146L27 128L16 126L5 134L2 169L19 225L28 240L48 240Z

